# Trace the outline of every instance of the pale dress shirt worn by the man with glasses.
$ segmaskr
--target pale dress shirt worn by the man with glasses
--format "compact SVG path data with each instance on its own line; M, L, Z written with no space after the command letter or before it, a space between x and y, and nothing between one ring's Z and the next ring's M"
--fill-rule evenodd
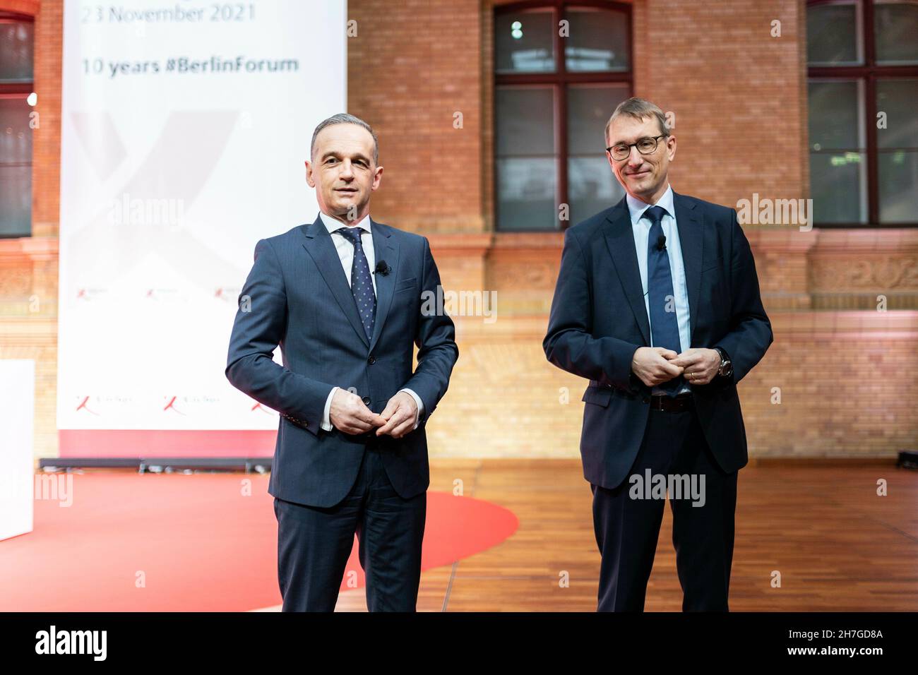
M673 296L676 307L676 321L679 329L679 343L681 349L679 354L689 349L691 345L691 331L689 328L689 294L686 286L685 265L682 262L682 245L679 243L679 230L676 227L676 207L673 204L673 188L666 186L666 192L660 197L656 204L647 204L646 202L636 199L631 195L625 195L628 202L628 212L632 219L632 232L634 235L634 249L637 253L637 266L641 271L641 287L644 290L644 309L647 310L647 325L650 325L650 292L647 287L647 244L650 237L650 227L653 225L650 218L644 216L644 212L653 207L660 207L666 210L666 215L660 221L663 228L663 234L666 236L666 256L669 258L669 274L673 277ZM651 326L651 346L654 346L654 332ZM682 394L690 391L689 384L686 383L679 389L678 393ZM652 394L665 394L666 392L659 387L653 388Z

